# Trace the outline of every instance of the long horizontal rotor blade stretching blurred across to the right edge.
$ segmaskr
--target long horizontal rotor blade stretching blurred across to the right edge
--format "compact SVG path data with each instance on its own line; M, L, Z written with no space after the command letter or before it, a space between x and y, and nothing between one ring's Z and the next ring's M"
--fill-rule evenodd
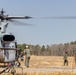
M11 19L76 19L76 16L61 16L61 17L30 17L30 16L4 16L0 15L2 20L11 20Z

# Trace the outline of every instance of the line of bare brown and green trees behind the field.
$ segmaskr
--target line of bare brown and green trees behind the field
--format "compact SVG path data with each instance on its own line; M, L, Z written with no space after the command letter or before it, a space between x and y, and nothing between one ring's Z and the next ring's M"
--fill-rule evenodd
M22 50L25 49L27 44L18 44L17 47ZM32 54L37 56L63 56L65 51L68 52L68 56L73 56L76 49L76 41L65 44L52 44L52 45L31 45L29 44Z

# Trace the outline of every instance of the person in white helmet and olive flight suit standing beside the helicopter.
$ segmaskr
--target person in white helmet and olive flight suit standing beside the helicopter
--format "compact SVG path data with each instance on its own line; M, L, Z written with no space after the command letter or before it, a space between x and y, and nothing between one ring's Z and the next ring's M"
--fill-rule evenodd
M25 66L29 67L29 60L30 60L30 56L31 56L31 50L30 50L29 46L25 47L24 54L25 54Z

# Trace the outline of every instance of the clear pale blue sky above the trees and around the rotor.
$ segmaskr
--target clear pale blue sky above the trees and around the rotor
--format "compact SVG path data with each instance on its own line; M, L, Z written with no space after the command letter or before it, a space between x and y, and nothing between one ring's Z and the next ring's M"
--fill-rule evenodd
M76 0L0 0L10 16L76 16ZM18 20L35 26L18 26L10 23L18 43L50 45L76 41L76 19L30 19Z

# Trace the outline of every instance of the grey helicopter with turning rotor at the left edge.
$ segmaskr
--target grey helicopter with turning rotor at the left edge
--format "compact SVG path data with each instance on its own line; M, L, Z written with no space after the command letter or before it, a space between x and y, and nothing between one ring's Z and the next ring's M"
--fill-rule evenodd
M10 63L18 59L17 41L12 33L6 31L8 21L12 19L29 19L29 16L8 16L0 11L0 63Z

